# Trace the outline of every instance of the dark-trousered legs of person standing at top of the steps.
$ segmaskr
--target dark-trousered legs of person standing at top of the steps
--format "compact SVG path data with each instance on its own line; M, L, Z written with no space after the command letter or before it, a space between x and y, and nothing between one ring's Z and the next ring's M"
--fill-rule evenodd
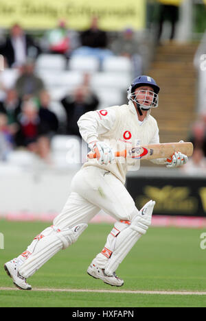
M170 40L174 39L176 32L176 23L179 21L179 5L182 0L158 0L159 4L159 17L158 17L158 31L157 31L157 41L161 40L161 35L163 32L163 23L165 21L170 21L171 32Z

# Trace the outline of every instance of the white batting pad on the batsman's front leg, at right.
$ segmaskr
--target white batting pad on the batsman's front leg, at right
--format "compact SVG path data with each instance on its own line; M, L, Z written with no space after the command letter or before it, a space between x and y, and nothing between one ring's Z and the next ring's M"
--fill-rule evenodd
M105 267L105 273L107 275L113 275L113 272L117 270L119 264L123 261L131 248L133 248L141 235L146 233L151 224L154 206L155 202L152 200L146 203L139 213L135 215L130 226L117 235L115 249Z

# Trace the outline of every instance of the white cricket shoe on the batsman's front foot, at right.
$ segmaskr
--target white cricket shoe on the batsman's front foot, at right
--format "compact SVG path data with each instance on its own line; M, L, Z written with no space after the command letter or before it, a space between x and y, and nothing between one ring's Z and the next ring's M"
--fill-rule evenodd
M98 268L97 265L91 264L87 269L87 273L93 278L100 278L104 283L115 286L115 287L122 287L124 285L124 280L122 278L118 278L118 276L113 273L113 275L106 275L104 269Z

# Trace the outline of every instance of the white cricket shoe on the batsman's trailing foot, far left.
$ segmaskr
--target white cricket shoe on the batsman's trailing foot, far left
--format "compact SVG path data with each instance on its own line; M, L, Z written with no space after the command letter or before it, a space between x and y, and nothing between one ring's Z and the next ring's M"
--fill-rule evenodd
M21 276L18 272L18 263L16 259L12 259L11 261L4 264L4 270L12 278L14 285L19 287L19 289L31 290L32 287L27 283L26 278Z

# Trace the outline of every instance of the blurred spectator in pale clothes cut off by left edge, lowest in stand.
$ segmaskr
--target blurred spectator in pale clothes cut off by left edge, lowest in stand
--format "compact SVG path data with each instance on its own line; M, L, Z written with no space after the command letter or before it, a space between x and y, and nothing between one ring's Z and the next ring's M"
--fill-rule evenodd
M13 149L13 136L8 126L8 118L0 112L0 160L6 160Z

